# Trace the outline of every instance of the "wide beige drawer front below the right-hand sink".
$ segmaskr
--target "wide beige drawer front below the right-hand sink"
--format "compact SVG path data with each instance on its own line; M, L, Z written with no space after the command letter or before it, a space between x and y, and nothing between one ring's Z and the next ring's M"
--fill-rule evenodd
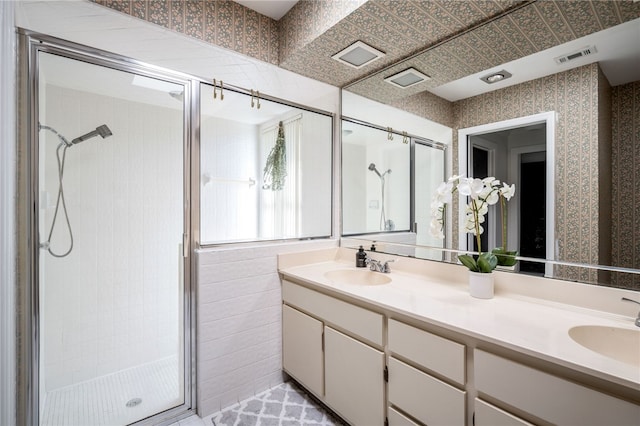
M638 424L640 406L526 365L474 350L474 377L480 394L554 424Z

